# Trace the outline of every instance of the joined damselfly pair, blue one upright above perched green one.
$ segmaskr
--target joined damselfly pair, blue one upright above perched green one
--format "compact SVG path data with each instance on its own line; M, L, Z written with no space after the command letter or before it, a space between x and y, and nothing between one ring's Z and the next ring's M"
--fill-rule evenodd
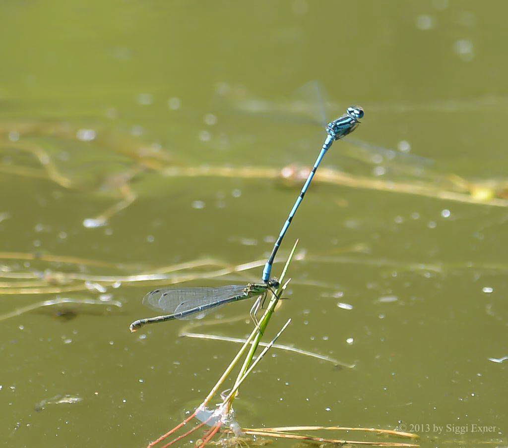
M275 241L272 253L268 258L263 269L262 280L264 283L255 284L249 283L245 285L230 285L218 288L161 288L149 292L144 298L145 305L154 308L156 311L163 311L170 313L163 316L156 316L152 318L139 319L130 325L132 332L138 330L143 325L164 322L173 319L193 319L201 318L218 306L225 305L226 303L245 300L251 297L259 296L255 304L250 310L250 315L254 322L256 321L256 312L261 304L261 298L265 296L268 291L275 293L274 289L278 288L279 282L277 280L269 280L272 265L275 260L277 251L282 243L284 235L288 231L289 226L303 200L303 197L309 188L312 178L325 157L326 152L332 146L335 140L339 140L347 134L353 132L360 123L360 118L363 117L363 109L359 106L351 106L346 109L346 113L336 120L328 123L326 127L327 138L321 152L310 171L305 184L302 187L298 198L296 199L293 209L284 222L279 236Z

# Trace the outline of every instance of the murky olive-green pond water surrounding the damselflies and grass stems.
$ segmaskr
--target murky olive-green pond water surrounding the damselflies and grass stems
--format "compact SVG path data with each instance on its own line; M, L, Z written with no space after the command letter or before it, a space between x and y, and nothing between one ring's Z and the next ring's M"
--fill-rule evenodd
M333 146L323 172L334 181L316 179L281 249L300 238L291 300L270 330L291 317L279 342L356 367L274 350L243 386L237 420L398 427L422 446L505 444L507 10L3 2L5 446L144 446L204 398L237 346L178 337L184 322L129 333L152 313L143 295L165 283L130 276L211 259L176 272L210 277L261 260L185 284L259 279L298 192L278 170L310 165L324 139L305 116L313 107L294 107L309 80L328 91L329 118L365 108L355 137L434 162L415 173ZM205 176L204 165L233 170ZM344 172L363 180L340 181ZM424 195L401 192L422 185ZM64 299L91 302L37 307Z

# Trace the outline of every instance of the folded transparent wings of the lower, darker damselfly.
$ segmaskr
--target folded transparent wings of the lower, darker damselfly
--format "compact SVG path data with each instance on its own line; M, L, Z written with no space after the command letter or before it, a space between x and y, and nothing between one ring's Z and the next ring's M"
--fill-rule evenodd
M146 294L143 304L157 312L174 314L215 302L218 302L218 306L221 301L241 294L244 289L245 285L221 286L219 288L160 288ZM188 318L200 319L214 309L216 307Z

